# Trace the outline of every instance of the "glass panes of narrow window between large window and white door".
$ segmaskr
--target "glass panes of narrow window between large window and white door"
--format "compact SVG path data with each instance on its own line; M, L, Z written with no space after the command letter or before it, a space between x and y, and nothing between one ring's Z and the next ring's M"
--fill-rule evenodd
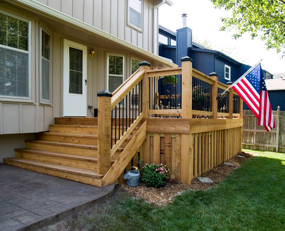
M50 35L41 30L41 99L50 102Z

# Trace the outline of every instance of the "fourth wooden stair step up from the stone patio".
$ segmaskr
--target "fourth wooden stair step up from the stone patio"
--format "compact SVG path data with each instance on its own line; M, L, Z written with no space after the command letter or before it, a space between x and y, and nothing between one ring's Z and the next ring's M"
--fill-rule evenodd
M132 136L126 138L126 141L121 147L126 147ZM57 132L38 132L36 133L36 140L46 140L62 143L84 144L84 145L98 145L97 135L85 135L85 134L67 134ZM118 141L118 138L116 138ZM115 143L115 136L113 136L113 143Z

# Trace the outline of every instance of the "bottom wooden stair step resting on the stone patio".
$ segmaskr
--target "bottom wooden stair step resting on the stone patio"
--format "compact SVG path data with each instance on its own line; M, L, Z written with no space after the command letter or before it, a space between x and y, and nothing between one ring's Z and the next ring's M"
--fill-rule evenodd
M98 174L97 171L43 163L16 157L4 158L3 160L5 164L102 187L101 179L104 175Z

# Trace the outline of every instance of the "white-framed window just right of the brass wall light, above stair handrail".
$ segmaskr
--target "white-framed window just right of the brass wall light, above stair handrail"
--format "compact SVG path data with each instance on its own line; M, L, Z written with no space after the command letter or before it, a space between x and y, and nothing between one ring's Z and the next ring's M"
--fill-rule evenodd
M124 82L124 55L107 55L107 88L108 91L115 91Z

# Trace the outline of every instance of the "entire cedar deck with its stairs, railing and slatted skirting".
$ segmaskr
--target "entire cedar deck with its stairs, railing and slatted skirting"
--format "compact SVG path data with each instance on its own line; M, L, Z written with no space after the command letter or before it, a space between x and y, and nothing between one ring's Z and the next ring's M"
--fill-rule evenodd
M233 110L233 89L219 106L218 89L227 86L215 74L192 69L191 60L185 59L181 68L149 69L149 64L140 63L113 94L98 94L98 118L55 118L49 132L27 140L26 149L15 149L15 157L4 163L105 186L122 182L124 173L140 159L143 164L166 164L170 177L189 185L241 151L242 100L239 111ZM181 75L181 108L153 109L157 80L167 75ZM206 97L211 110L192 108L192 78L210 86ZM162 115L168 118L159 118Z

